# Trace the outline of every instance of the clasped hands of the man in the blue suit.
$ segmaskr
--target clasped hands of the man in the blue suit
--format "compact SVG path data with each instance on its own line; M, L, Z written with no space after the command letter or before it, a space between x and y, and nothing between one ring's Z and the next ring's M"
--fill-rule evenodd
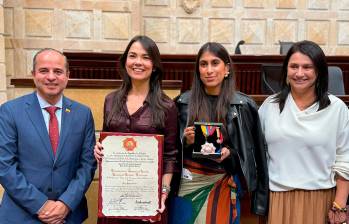
M47 207L48 206L48 207ZM47 201L39 213L39 219L44 223L61 224L69 213L69 207L61 201Z

